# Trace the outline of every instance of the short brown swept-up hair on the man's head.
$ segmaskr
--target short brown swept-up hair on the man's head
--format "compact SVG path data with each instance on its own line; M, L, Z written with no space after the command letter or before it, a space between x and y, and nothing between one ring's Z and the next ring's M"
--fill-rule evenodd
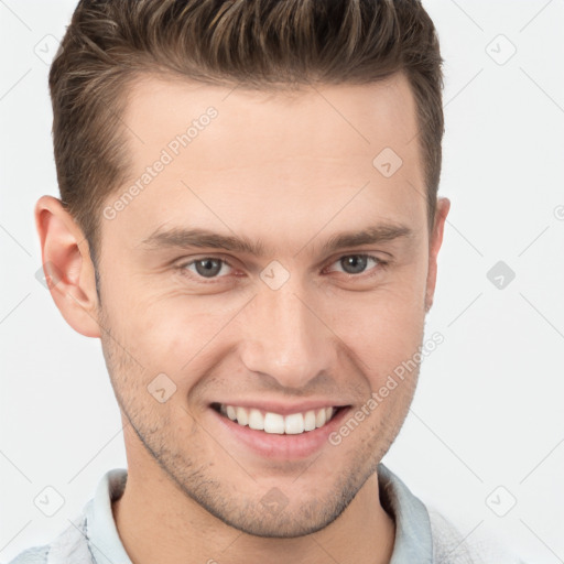
M126 86L140 74L267 90L367 84L404 72L416 102L431 229L444 132L442 63L420 0L82 0L50 73L61 199L96 265L102 203L127 181Z

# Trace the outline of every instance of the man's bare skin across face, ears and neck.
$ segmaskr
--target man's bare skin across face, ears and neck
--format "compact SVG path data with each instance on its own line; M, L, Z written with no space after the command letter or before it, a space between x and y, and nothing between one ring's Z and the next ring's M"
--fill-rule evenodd
M209 106L217 118L101 221L101 304L76 223L51 196L35 209L43 262L61 276L53 299L73 328L101 339L121 410L129 475L112 507L119 534L138 564L387 563L394 523L376 470L419 368L339 445L303 459L259 456L209 405L314 399L355 412L422 345L451 204L438 199L430 234L409 83L397 74L273 95L144 76L123 116L134 132L126 131L130 180L106 204ZM387 147L403 161L389 178L372 165ZM381 223L413 236L322 250L334 234ZM173 226L246 236L268 252L142 243ZM359 253L389 264L347 274L340 259ZM213 280L185 267L206 257L230 265ZM290 274L278 290L260 278L273 260ZM148 391L159 373L176 386L163 403ZM261 503L274 487L288 503L275 514Z

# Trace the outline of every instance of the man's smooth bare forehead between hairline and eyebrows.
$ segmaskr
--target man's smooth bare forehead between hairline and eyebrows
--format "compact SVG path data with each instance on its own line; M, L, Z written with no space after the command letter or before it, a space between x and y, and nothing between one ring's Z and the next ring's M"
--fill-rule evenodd
M425 223L415 104L401 74L270 93L143 76L123 123L129 177L106 203L138 186L109 226L138 240L198 221L302 239L305 225Z

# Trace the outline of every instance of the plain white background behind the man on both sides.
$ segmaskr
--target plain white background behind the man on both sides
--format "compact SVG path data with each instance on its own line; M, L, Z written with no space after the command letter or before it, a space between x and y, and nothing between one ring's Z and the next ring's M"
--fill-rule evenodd
M58 196L36 52L74 4L0 1L2 562L53 540L104 473L126 467L99 341L35 279L33 205ZM424 4L446 61L440 195L452 210L426 326L445 341L384 463L468 539L490 531L527 562L564 562L564 2ZM486 275L500 260L516 273L502 290ZM65 499L51 518L33 503L46 486Z

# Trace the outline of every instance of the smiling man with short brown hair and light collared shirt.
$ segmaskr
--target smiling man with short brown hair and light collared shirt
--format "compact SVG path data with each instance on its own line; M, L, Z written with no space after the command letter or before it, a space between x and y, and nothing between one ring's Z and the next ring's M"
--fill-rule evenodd
M78 4L35 217L128 470L14 563L478 562L381 464L449 209L441 63L415 0Z

